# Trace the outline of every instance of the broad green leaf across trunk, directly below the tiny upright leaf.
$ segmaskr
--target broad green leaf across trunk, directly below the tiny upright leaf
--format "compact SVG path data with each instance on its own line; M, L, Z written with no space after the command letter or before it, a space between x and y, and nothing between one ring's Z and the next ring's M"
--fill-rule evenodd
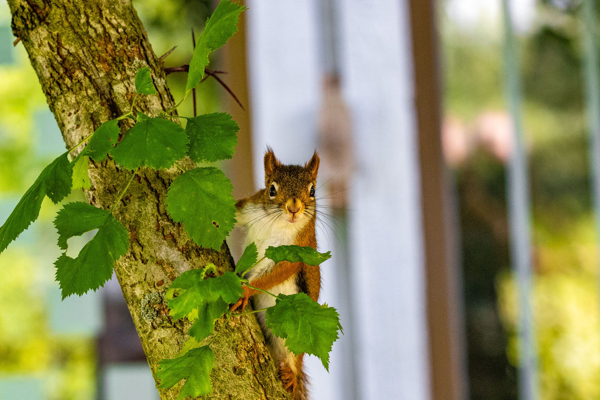
M163 118L150 118L139 112L137 123L125 133L110 154L127 169L149 166L169 168L185 157L188 137L181 125Z

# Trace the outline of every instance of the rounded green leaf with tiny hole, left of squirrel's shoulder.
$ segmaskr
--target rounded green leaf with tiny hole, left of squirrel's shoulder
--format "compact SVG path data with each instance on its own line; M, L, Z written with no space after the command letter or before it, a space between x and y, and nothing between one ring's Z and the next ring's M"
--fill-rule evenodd
M223 171L199 167L173 181L165 203L172 219L184 224L196 244L218 250L236 222L232 193Z

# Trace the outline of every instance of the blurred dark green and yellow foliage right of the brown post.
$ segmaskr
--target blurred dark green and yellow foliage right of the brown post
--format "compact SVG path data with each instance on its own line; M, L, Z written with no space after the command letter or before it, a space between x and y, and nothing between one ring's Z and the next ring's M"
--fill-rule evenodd
M600 398L598 232L578 10L557 3L539 2L532 29L520 36L539 387L543 399L587 400ZM501 30L465 31L443 19L445 112L463 123L470 143L455 173L473 399L517 398L505 163L478 136L478 118L505 109L502 50Z

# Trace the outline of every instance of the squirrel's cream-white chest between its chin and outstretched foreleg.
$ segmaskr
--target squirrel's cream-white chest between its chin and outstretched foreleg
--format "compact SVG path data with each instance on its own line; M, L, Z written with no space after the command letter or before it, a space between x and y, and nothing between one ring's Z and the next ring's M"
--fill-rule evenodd
M295 244L301 223L289 223L283 212L265 211L262 207L248 203L236 213L239 226L245 231L244 249L254 242L259 253L259 259L265 255L269 246ZM273 267L273 261L263 259L248 273L248 279L260 276Z

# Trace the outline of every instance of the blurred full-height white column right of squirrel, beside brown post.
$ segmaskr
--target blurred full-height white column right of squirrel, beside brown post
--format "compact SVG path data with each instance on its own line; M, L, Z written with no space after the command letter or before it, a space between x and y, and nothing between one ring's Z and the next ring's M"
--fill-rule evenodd
M340 0L358 171L349 198L362 398L430 398L414 78L406 0ZM443 245L443 244L440 244Z

